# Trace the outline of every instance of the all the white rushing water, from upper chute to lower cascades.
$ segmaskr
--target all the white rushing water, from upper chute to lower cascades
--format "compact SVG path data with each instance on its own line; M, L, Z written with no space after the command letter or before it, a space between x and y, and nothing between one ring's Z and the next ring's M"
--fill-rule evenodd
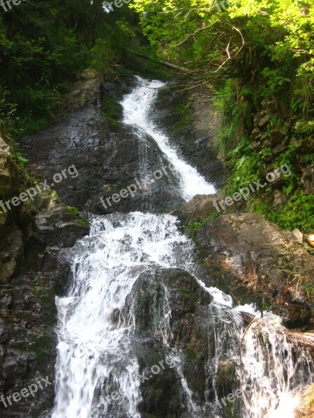
M214 187L181 158L170 139L149 119L158 88L164 84L148 82L140 77L137 81L139 85L121 102L124 123L140 128L156 141L180 175L184 199L188 200L195 194L214 193ZM89 236L78 241L73 249L73 281L68 295L57 298L58 380L53 418L141 417L140 364L132 346L135 318L125 321L121 311L143 272L149 272L151 268L181 268L195 274L192 253L193 243L179 232L177 219L170 215L133 212L91 217ZM216 355L207 364L207 376L211 376L214 382L217 397L215 373L218 360L223 355L238 357L241 316L239 308L232 308L230 296L217 288L207 288L200 280L199 283L213 297L211 309L217 321ZM165 345L170 318L171 312L165 315L161 339ZM264 327L268 330L267 319L264 319ZM281 334L278 335L280 337L276 336L276 329L271 325L269 338L277 338L283 343ZM231 344L226 343L227 339L231 339ZM285 369L288 378L292 379L296 366L289 357L290 346L286 341L284 343L288 352ZM297 403L292 389L297 383L304 383L302 376L294 387L289 387L283 371L278 369L282 358L274 353L276 367L268 373L266 380L259 383L265 376L258 341L248 332L243 346L241 373L238 370L237 375L241 385L250 382L254 389L251 398L244 399L244 410L239 417L292 418L291 408ZM181 352L172 352L174 369L186 398L186 416L209 417L204 415L206 405L196 405L193 400L193 392L181 369L181 358ZM237 362L239 364L239 358ZM286 401L287 397L290 403ZM213 417L221 416L209 401L207 407L214 413Z

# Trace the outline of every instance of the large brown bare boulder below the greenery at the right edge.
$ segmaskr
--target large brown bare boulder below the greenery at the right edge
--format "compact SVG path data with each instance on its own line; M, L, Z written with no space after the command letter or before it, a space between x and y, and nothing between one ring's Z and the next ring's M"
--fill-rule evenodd
M246 286L257 301L274 307L285 326L313 326L314 257L290 240L290 233L243 213L204 224L196 237L205 260L229 271L233 286Z

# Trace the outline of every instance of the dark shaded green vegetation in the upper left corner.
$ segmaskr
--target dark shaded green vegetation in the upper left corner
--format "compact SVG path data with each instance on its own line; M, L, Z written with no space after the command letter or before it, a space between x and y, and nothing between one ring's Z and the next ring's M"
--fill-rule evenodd
M105 13L102 3L37 0L0 13L0 124L14 140L65 111L68 86L85 68L113 82L140 67L128 49L154 55L135 12Z

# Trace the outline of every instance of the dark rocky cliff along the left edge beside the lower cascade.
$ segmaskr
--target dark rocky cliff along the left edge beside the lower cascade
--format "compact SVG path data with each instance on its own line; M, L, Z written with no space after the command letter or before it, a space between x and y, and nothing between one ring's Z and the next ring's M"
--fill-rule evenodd
M2 138L0 176L3 201L33 186ZM4 396L0 410L3 418L38 417L54 398L54 297L68 280L58 254L89 228L86 219L69 210L55 192L38 192L33 201L28 198L10 207L0 213L0 396ZM49 384L43 382L46 378ZM38 387L36 399L20 395L30 385Z

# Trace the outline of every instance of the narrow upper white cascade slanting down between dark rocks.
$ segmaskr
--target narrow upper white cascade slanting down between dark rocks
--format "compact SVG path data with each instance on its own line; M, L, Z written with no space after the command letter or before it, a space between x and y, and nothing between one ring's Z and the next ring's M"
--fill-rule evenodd
M130 94L124 97L121 104L124 108L124 123L140 127L145 133L149 134L158 144L160 149L167 155L167 159L173 164L181 180L181 193L186 201L195 194L214 194L214 185L197 173L197 169L191 167L178 151L170 144L170 139L161 132L149 118L152 104L154 104L158 88L165 86L159 81L149 82L137 77L140 86L137 86ZM139 138L140 140L140 138Z

